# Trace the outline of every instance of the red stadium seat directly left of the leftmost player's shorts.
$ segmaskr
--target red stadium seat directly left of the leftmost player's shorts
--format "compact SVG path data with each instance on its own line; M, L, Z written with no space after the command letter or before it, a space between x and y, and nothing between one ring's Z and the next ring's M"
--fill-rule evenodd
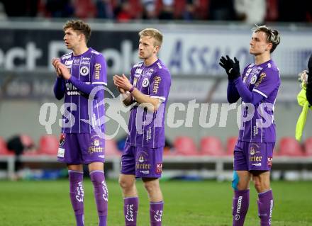
M59 141L54 135L43 135L39 140L39 149L40 154L49 154L57 155L59 147Z

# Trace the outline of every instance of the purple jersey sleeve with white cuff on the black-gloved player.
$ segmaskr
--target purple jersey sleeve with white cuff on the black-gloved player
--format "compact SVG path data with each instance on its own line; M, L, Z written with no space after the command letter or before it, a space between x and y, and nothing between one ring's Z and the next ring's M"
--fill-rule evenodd
M279 71L277 69L265 68L255 82L252 91L267 98L280 84Z

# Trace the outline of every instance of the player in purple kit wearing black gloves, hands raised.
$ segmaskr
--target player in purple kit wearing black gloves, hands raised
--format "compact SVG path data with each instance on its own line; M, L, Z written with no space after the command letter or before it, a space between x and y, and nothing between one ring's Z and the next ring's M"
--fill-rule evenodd
M276 141L274 103L281 84L279 69L271 53L279 45L277 30L257 26L250 41L255 64L240 75L239 62L221 57L220 65L228 74L228 102L242 98L242 125L234 149L233 225L244 224L249 206L249 183L252 179L258 193L258 215L261 225L271 225L273 194L269 175Z

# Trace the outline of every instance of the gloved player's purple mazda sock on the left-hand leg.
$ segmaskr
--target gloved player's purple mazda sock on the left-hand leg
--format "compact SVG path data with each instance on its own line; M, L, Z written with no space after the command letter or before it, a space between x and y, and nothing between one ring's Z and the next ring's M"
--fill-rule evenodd
M249 189L234 191L233 198L233 226L243 226L249 207Z

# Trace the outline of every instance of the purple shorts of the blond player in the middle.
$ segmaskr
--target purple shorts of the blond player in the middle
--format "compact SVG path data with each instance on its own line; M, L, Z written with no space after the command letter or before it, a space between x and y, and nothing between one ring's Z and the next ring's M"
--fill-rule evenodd
M125 145L121 156L121 174L160 178L163 149L163 147L146 148Z

